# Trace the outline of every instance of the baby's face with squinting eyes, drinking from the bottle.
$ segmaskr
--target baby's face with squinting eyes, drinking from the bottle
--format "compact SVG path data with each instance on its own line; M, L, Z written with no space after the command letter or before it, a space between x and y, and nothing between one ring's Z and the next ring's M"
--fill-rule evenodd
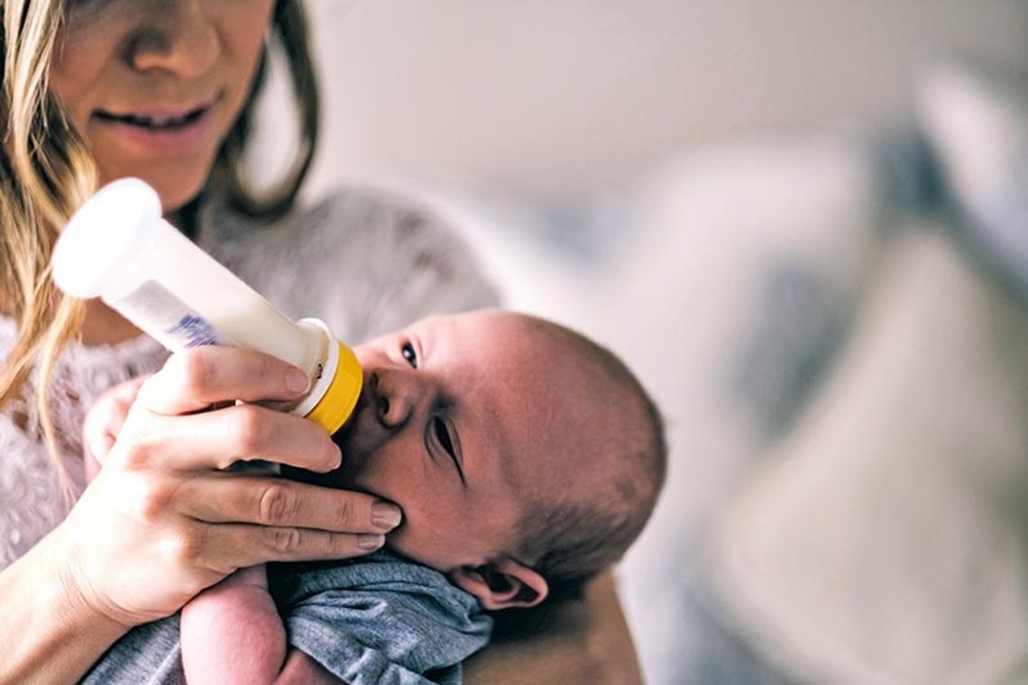
M519 502L566 477L549 463L567 429L555 420L567 412L550 409L564 404L563 366L500 311L423 319L355 351L365 384L333 483L399 504L389 544L424 564L448 571L502 553Z

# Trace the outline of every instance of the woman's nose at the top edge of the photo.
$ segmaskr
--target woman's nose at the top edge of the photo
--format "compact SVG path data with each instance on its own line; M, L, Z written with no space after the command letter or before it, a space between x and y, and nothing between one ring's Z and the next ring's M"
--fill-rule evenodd
M217 24L205 7L209 0L167 3L131 37L128 61L138 71L166 71L183 78L206 74L221 53Z

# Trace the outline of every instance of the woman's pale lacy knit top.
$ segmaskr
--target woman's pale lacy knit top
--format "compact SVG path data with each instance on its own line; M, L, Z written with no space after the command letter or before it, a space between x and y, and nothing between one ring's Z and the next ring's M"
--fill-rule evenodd
M199 243L291 317L319 316L356 343L421 315L495 304L471 253L433 216L384 192L339 193L269 227L212 206ZM15 328L0 318L0 353ZM49 388L73 490L83 487L80 430L104 389L156 371L167 352L148 338L72 343ZM34 397L35 386L25 397ZM0 568L59 524L70 507L43 444L35 403L0 414Z

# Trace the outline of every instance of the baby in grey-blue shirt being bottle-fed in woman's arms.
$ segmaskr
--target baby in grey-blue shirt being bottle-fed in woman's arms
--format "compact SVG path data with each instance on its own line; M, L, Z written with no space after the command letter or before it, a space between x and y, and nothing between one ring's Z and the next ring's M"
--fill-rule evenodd
M174 616L140 626L86 682L458 682L487 611L578 594L641 531L663 426L610 351L483 310L355 352L365 383L336 435L343 465L284 474L400 505L387 549L236 572L186 605L181 639Z

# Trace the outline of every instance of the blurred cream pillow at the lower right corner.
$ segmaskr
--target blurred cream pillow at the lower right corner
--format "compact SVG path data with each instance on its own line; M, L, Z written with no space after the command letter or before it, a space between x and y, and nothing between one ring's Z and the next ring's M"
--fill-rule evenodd
M1025 340L952 241L901 240L712 543L707 577L764 654L814 682L1025 682Z

